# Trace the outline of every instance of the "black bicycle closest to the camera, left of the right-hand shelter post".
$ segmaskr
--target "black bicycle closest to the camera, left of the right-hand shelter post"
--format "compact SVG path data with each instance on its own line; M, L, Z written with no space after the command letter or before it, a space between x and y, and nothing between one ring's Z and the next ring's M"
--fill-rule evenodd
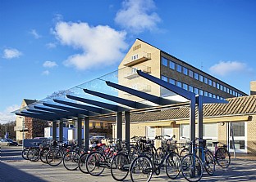
M171 137L170 140L172 140ZM130 165L130 179L135 181L149 181L152 178L153 172L156 175L160 174L162 168L165 168L167 176L171 179L176 179L181 171L181 158L175 152L169 150L170 145L168 144L168 149L162 156L162 158L157 158L158 154L154 152L153 140L149 140L150 143L147 144L151 149L151 153L140 153L137 158Z

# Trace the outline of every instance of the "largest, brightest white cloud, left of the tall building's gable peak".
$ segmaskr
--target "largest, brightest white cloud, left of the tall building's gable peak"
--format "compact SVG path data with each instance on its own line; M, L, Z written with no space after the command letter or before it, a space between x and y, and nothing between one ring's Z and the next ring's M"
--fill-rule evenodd
M87 23L58 22L54 33L63 45L80 50L69 56L64 64L76 69L99 68L120 62L126 50L126 32L105 25L89 26Z

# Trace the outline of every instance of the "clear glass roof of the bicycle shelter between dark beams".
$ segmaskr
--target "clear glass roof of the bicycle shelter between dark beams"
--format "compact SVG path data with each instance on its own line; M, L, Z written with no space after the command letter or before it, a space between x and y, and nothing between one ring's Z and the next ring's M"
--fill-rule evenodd
M33 108L34 105L38 105L38 104L42 105L45 102L51 103L51 104L58 104L57 102L54 102L53 99L66 100L68 102L75 103L75 104L84 104L84 105L89 105L89 106L94 106L94 107L100 107L100 106L95 106L94 104L80 102L79 100L72 100L72 99L68 98L67 95L74 95L75 97L80 97L80 98L84 98L87 100L103 102L106 104L113 104L113 105L117 105L119 107L126 108L126 109L134 109L134 108L128 107L126 105L118 104L111 100L106 100L101 97L85 93L84 89L88 89L90 91L97 91L97 92L100 92L103 94L116 96L116 97L126 99L126 100L132 100L132 101L135 101L138 103L148 104L151 106L158 106L158 104L153 103L150 100L145 100L145 99L135 96L133 94L127 93L126 91L121 91L121 90L117 90L114 87L109 87L109 86L107 86L106 81L116 83L118 85L128 87L130 89L134 89L136 91L141 91L142 93L154 95L156 97L159 97L159 98L162 98L165 100L170 100L170 101L174 100L173 103L188 101L185 98L181 97L181 95L177 95L174 92L167 90L166 88L160 87L156 83L150 82L148 79L140 77L137 74L135 68L125 67L123 69L119 69L112 73L103 75L100 78L96 78L89 82L82 83L76 87L72 87L66 91L56 92L53 95L49 95L48 97L44 98L43 100L39 100L33 104L26 106L25 108L18 109L16 111L14 111L14 113L19 113L21 110L24 110L24 109L31 109L31 108ZM63 104L60 104L60 105L63 105Z

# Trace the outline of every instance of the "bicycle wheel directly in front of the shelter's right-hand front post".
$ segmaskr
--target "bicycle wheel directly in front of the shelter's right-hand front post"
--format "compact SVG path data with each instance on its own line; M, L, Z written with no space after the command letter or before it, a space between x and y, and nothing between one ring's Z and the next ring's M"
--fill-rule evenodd
M203 164L198 156L185 155L181 160L181 172L188 181L199 181L203 175Z

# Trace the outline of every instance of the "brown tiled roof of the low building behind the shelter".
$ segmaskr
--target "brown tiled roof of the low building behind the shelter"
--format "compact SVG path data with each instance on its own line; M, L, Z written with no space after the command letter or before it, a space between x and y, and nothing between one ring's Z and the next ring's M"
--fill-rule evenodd
M229 102L228 104L204 104L203 117L256 114L256 95L234 97L226 100ZM130 120L133 122L179 120L189 118L189 107L164 109L155 112L151 111L149 113L134 113L130 116Z

